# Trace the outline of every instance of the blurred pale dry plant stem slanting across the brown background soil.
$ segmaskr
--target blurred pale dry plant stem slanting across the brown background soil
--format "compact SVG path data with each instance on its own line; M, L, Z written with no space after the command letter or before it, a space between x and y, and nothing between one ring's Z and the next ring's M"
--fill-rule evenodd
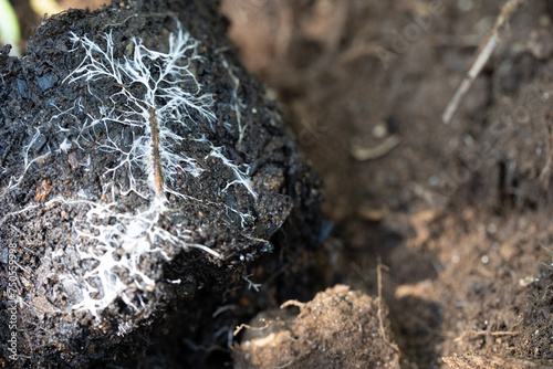
M472 65L470 66L469 71L467 72L467 75L462 80L461 85L455 93L453 97L451 98L446 108L446 112L441 116L441 120L445 124L449 124L451 122L451 118L453 117L453 114L459 107L460 102L469 91L470 86L472 85L477 76L482 71L483 66L490 59L490 55L493 52L493 50L495 50L497 45L499 44L499 32L503 30L507 22L517 12L521 3L522 0L508 0L503 4L501 13L495 20L495 24L491 29L490 33L488 33L488 36L486 38L483 44L480 45L480 49L477 52L477 57L472 62Z

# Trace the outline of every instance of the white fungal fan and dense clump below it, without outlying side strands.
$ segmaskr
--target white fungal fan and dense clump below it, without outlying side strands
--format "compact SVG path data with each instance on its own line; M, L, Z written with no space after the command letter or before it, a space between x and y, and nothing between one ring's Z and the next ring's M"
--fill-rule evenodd
M186 138L173 127L194 125L197 123L194 117L209 125L217 120L211 110L213 97L201 92L199 82L190 72L190 63L200 60L197 55L199 42L179 27L178 32L169 35L167 53L149 50L142 40L134 38L132 57L118 61L114 56L112 33L104 34L103 39L105 48L87 36L72 34L71 38L74 44L84 49L85 57L64 81L71 84L84 80L91 94L93 82L111 82L119 87L119 92L111 97L112 106L102 105L97 117L88 113L88 119L79 133L83 140L76 145L96 141L95 133L103 131L105 139L97 148L119 156L118 162L104 173L112 176L109 186L118 186L111 189L112 198L117 199L117 192L121 196L134 192L149 205L129 213L118 210L116 202L87 202L90 210L85 222L81 226L75 224L81 240L95 245L77 245L81 260L92 260L96 265L82 276L83 281L77 281L83 288L83 299L73 308L88 310L96 319L100 318L98 312L117 297L138 309L129 297L131 292L155 288L155 280L142 271L140 259L158 252L170 260L171 256L161 247L164 244L197 247L221 257L209 247L194 244L189 231L177 229L171 233L159 225L160 217L168 210L167 193L186 198L173 187L176 176L199 177L204 171L194 158L176 151L175 147ZM142 88L140 94L132 92L137 91L137 86ZM112 129L115 125L118 125L118 130ZM132 137L127 145L123 144L125 136ZM116 183L118 178L126 178L127 182ZM116 274L121 270L128 272L134 284L122 281Z

